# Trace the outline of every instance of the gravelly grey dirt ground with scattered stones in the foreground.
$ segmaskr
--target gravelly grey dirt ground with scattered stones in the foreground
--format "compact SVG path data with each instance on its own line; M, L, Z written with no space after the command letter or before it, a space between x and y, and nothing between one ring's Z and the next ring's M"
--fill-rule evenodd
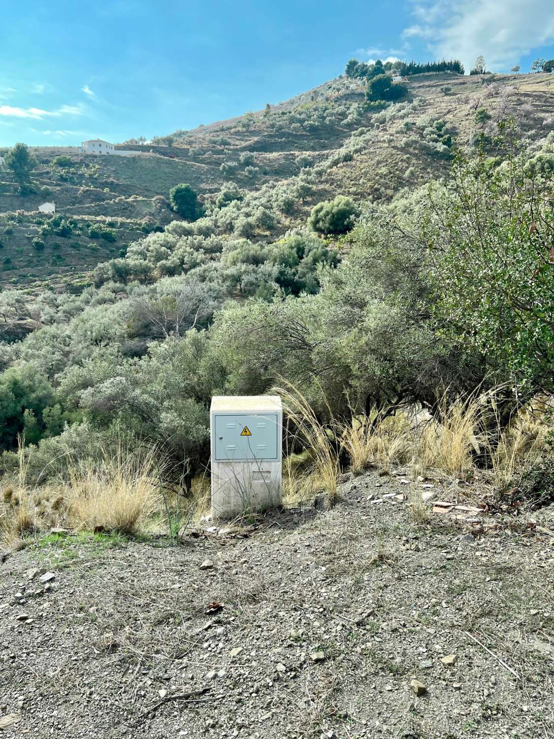
M52 534L5 554L0 727L554 737L554 537L524 518L421 514L408 500L422 486L371 472L331 511L307 505L179 545ZM554 529L553 506L533 517Z

